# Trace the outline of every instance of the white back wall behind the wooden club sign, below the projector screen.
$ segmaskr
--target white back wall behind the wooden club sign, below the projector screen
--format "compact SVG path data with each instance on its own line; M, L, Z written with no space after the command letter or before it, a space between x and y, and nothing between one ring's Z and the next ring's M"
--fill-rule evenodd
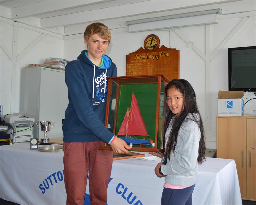
M170 39L169 31L128 33L127 28L114 29L111 30L112 39L107 55L116 63L118 76L125 76L126 55L143 47L144 39L149 34L156 34L160 38L161 45L166 47L169 46L170 41L172 48L180 50L180 78L188 80L195 89L205 125L207 148L216 148L217 95L219 90L228 90L228 48L256 45L256 18L252 16L243 25L239 24L243 19L244 17L231 18L229 16L227 19L219 19L218 24L211 26L169 29ZM246 19L243 20L245 21ZM238 29L239 27L242 28ZM211 54L210 59L208 58L210 82L206 82L206 75L208 75L206 74L206 61L191 48L191 44L187 44L177 34L179 33L177 30L185 34L204 54L207 49L209 50ZM206 34L206 31L210 33ZM207 41L209 36L210 42ZM68 60L76 59L81 50L86 48L83 34L70 35L64 39L64 58ZM224 46L221 44L223 41ZM209 46L206 48L206 43L210 45L210 48ZM206 91L207 86L210 88L210 93Z

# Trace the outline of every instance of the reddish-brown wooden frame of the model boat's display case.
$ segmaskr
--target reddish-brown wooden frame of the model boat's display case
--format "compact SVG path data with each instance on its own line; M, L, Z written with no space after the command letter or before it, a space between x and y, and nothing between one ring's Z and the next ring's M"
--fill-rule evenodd
M147 86L147 85L154 85L156 87L155 94L156 98L152 98L151 100L156 102L156 123L155 123L155 131L154 135L150 137L153 140L152 145L145 146L140 144L140 147L132 147L129 151L143 151L143 152L163 152L163 130L164 130L164 121L165 121L165 112L166 112L166 105L165 105L165 93L164 88L169 83L169 80L161 74L157 75L144 75L144 76L122 76L122 77L108 77L108 94L107 94L107 104L106 104L106 115L105 115L105 126L108 128L109 126L109 114L110 114L110 106L113 106L110 103L112 102L111 94L114 92L115 95L115 110L114 114L112 116L113 118L113 126L112 131L115 135L117 135L117 118L118 118L118 106L119 102L121 101L121 95L119 96L120 92L120 86L121 85L138 85L141 86ZM115 89L112 89L113 85L115 85ZM157 85L157 86L156 86ZM136 91L134 91L136 92ZM162 94L162 96L161 96ZM160 97L162 97L163 101L163 108L162 110L162 118L159 117L159 111L160 111ZM154 111L153 111L154 112ZM143 114L142 114L143 115ZM160 121L159 121L160 120ZM160 126L160 128L159 128ZM153 132L153 131L151 131ZM160 138L160 139L159 139ZM103 143L103 146L99 149L104 150L112 150L111 146Z

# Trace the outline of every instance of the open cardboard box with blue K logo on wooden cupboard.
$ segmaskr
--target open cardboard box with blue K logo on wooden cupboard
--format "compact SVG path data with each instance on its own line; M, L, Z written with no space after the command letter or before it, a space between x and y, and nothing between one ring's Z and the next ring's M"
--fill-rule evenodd
M244 91L219 91L218 115L242 116L244 114Z

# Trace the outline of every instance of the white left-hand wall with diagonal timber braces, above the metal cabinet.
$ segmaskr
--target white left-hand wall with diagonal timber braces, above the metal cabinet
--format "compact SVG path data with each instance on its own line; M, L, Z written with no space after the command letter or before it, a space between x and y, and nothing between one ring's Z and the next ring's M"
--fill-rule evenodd
M63 57L63 36L0 18L0 105L3 115L20 112L20 71L45 58ZM33 86L33 85L31 85Z

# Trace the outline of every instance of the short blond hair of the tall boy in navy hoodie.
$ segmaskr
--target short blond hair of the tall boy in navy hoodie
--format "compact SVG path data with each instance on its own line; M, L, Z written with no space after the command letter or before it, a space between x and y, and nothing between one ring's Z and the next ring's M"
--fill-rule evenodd
M90 24L84 31L85 40L88 41L89 37L94 34L98 34L101 38L108 40L108 43L110 43L111 33L108 26L100 22Z

